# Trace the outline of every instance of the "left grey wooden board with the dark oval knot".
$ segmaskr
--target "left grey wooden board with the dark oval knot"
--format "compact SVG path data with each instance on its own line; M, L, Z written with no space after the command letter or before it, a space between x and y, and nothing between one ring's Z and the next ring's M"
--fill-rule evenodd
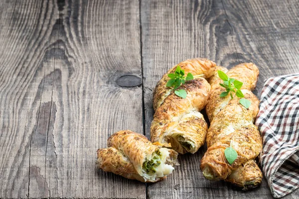
M112 133L143 133L139 1L0 10L0 198L146 198L95 164Z

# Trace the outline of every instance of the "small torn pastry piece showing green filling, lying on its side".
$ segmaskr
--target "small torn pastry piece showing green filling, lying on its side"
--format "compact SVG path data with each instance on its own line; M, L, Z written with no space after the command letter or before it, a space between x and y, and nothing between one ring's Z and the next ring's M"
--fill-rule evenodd
M152 144L144 135L119 131L108 139L108 148L98 149L98 167L128 179L157 182L178 165L177 153Z

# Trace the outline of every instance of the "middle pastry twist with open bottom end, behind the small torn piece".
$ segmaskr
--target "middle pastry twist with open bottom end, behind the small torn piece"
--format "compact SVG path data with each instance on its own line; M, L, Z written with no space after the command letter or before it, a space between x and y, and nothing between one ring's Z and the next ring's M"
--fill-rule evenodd
M178 64L185 75L202 75L209 78L213 75L216 64L207 59L189 59ZM176 65L177 66L177 65ZM172 149L184 154L195 153L204 143L207 124L199 112L207 104L210 85L204 78L186 81L179 89L187 92L186 99L174 94L166 87L167 74L173 73L174 66L158 82L154 89L153 106L155 114L150 127L152 142L171 144Z

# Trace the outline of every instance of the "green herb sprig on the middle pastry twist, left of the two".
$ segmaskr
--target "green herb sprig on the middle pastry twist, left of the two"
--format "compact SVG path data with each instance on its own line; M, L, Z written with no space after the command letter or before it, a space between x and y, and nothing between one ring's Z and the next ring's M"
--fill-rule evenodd
M186 77L184 77L184 75L185 75L185 70L182 70L180 66L177 65L174 73L169 73L167 75L170 78L170 80L166 83L166 87L173 87L173 90L176 90L179 86L185 84L186 81L194 79L191 73L188 73ZM200 76L202 75L198 75L195 77L200 77ZM183 89L174 91L174 94L183 99L187 97L187 92Z

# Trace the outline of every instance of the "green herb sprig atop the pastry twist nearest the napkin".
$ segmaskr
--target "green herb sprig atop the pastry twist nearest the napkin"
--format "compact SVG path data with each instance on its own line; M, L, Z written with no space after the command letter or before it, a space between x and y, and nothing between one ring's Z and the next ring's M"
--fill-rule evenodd
M243 82L240 82L233 78L229 78L223 71L218 70L217 72L219 78L223 80L223 84L220 83L219 85L226 89L225 92L222 92L220 94L220 97L223 98L230 94L231 99L233 99L233 93L235 93L235 96L237 96L238 98L242 98L241 100L239 100L239 103L243 105L245 108L249 108L249 106L251 105L251 101L244 99L244 94L240 90L243 86Z

